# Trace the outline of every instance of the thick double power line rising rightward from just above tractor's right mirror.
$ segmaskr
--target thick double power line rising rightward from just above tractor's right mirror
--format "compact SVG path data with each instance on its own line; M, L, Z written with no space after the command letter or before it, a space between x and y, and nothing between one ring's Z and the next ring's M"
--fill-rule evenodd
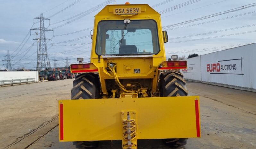
M201 18L197 18L197 19L193 19L193 20L188 20L188 21L184 21L184 22L180 22L180 23L176 23L176 24L172 24L172 25L163 26L162 28L166 29L166 28L170 28L170 27L175 27L175 26L179 26L179 25L183 25L183 24L187 24L187 23L191 23L191 22L195 22L195 21L199 21L199 20L203 20L203 19L207 19L207 18L211 18L211 17L215 17L215 16L219 16L219 15L226 14L226 13L235 12L235 11L243 10L243 9L246 9L246 8L251 8L251 7L254 7L254 6L256 6L256 3L252 3L252 4L245 5L245 6L233 8L233 9L226 10L226 11L223 11L223 12L214 13L214 14L204 16L204 17L201 17Z

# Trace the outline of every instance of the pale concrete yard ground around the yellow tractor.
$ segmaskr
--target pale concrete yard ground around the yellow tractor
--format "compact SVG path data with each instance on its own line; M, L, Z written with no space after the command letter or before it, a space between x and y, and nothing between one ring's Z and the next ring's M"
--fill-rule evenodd
M58 141L58 99L69 99L73 79L0 88L0 148L74 149ZM189 95L200 96L201 138L185 149L256 148L256 93L187 82ZM167 149L161 140L138 141L139 148ZM120 149L120 141L99 149Z

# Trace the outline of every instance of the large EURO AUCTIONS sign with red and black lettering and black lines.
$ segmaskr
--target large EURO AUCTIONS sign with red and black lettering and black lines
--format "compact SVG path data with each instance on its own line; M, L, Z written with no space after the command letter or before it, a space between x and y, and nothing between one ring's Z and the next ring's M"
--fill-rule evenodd
M234 74L244 75L242 68L243 58L224 59L216 63L206 64L206 71L210 74Z

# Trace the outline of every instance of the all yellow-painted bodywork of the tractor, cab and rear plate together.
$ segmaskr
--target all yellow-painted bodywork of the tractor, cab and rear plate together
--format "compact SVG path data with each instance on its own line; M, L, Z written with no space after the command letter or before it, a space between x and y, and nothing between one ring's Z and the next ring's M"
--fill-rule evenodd
M119 8L126 11L115 12ZM136 14L127 13L127 8L138 8L138 10ZM95 48L98 23L103 20L124 19L154 20L157 23L158 35L154 34L152 38L158 37L160 51L152 55L97 55ZM98 71L103 99L59 100L60 141L122 140L125 143L123 122L126 121L124 114L127 112L132 112L131 119L136 122L133 123L136 125L133 128L136 133L132 134L134 144L136 144L136 139L201 136L200 117L198 115L196 119L195 110L197 109L195 103L199 102L198 96L148 97L148 89L141 88L138 92L132 92L124 87L129 84L121 84L119 81L119 79L151 79L151 95L159 96L157 94L160 74L158 68L167 63L164 62L166 55L161 18L158 12L147 4L107 5L95 16L92 38L90 68L71 69L71 72ZM106 37L102 36L102 38ZM105 51L105 48L102 48L102 51ZM113 65L111 69L110 64ZM134 73L134 69L140 69L140 73ZM105 82L107 79L115 79L118 86L124 88L122 89L124 92L117 96L120 98L115 98L117 89L112 89L112 96L107 96ZM137 98L139 94L144 98ZM109 97L114 99L107 99ZM124 146L123 144L123 148Z

